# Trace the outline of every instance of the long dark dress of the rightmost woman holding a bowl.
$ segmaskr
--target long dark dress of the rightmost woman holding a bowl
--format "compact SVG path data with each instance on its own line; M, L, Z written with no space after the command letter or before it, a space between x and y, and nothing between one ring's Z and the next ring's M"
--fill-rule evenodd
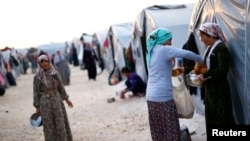
M204 78L207 78L205 81L207 131L209 131L210 125L235 124L231 92L227 80L227 73L230 67L229 51L225 44L219 43L211 52L210 69L203 74Z

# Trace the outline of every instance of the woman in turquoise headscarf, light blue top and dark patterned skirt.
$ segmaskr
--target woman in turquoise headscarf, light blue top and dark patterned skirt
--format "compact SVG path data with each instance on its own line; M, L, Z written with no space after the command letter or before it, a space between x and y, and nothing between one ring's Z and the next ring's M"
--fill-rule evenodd
M186 58L203 64L201 56L172 46L172 32L158 28L147 37L146 100L153 141L179 141L180 123L172 94L172 60Z

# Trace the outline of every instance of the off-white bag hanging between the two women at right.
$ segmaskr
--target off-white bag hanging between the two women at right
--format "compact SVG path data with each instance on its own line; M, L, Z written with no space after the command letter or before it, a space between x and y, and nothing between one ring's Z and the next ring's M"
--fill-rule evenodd
M194 115L194 103L189 90L185 86L184 76L172 77L173 98L179 118L191 119Z

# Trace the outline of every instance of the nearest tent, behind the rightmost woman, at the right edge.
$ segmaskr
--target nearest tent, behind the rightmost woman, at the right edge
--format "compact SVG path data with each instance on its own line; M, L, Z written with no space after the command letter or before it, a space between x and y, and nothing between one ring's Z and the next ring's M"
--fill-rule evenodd
M228 74L234 116L238 124L250 123L250 1L198 0L190 21L200 54L205 46L200 42L198 28L205 22L216 22L225 34L232 66Z

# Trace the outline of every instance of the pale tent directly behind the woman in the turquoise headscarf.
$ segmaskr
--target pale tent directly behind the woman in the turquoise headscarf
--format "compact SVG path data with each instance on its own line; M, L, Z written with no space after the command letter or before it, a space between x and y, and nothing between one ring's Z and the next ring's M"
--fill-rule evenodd
M147 81L146 37L153 30L165 27L173 33L173 46L182 48L187 41L188 25L194 4L153 5L144 8L133 27L132 49L136 72Z

